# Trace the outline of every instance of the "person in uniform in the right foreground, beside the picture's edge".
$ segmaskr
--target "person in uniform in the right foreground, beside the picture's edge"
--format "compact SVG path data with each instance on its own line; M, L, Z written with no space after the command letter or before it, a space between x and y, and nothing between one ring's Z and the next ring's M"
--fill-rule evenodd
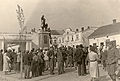
M111 41L108 44L108 53L107 53L107 71L112 81L116 81L116 63L119 56L119 51L116 49L116 46Z

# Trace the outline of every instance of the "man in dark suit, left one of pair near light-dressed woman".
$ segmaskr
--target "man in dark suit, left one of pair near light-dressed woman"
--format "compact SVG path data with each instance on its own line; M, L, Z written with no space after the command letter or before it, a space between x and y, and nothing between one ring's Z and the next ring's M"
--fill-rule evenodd
M83 56L83 50L82 50L82 48L83 48L82 45L77 46L76 53L75 53L76 62L78 64L78 75L79 76L82 74L82 72L81 72L82 56Z

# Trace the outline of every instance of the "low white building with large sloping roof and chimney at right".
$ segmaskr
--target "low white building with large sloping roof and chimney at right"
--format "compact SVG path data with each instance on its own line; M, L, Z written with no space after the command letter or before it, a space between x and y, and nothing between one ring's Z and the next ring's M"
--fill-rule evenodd
M120 22L116 23L116 20L113 20L113 24L99 27L89 36L90 45L106 45L107 41L115 41L115 44L120 46Z

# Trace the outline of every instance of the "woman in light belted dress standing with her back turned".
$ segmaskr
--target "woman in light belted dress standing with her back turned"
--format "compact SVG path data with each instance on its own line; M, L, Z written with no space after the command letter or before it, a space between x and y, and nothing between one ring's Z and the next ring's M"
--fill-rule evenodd
M93 46L90 47L89 53L89 70L91 75L91 81L95 81L99 77L99 68L98 68L98 54Z

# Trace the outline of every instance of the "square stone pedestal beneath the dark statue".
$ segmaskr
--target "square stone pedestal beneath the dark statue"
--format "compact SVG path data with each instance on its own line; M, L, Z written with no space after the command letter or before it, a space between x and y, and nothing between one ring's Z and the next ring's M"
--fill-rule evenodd
M50 37L49 33L47 31L41 31L39 32L39 47L42 49L48 49L50 46Z

